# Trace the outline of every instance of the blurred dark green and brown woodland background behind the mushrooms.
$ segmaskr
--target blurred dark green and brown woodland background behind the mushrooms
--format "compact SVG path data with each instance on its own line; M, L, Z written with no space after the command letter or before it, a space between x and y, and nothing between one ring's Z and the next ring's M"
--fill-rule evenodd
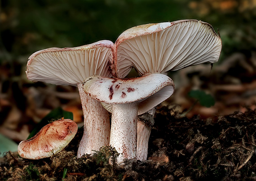
M186 111L194 102L187 93L196 87L211 94L216 104L211 108L198 104L189 117L254 109L255 0L0 0L0 133L20 142L58 106L72 111L78 124L83 121L75 87L26 79L26 61L32 53L102 39L115 42L132 26L180 19L208 22L219 30L223 47L212 71L208 65L207 73L200 66L171 73L176 95L165 105L178 103L178 110ZM179 77L184 75L187 81L181 80L181 85Z

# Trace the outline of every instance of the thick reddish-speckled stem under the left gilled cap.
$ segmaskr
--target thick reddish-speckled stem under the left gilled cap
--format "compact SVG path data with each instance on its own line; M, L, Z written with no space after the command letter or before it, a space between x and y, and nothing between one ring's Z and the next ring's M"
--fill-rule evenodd
M98 151L100 147L109 146L109 113L97 100L84 93L81 83L77 84L84 113L84 134L80 141L77 157Z

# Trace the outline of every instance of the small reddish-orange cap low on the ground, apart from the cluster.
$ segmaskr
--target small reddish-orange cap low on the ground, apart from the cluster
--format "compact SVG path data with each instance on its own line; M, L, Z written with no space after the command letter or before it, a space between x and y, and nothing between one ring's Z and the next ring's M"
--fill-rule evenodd
M62 151L75 137L77 124L69 119L45 125L34 137L18 145L18 154L26 159L42 159Z

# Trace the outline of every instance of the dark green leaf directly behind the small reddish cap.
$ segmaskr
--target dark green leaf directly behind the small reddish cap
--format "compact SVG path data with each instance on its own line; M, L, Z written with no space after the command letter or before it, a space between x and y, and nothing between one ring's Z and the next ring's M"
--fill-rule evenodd
M64 119L71 119L73 120L73 113L64 111L62 108L58 107L53 109L49 114L47 114L31 131L27 139L32 138L37 134L40 129L42 129L45 125L49 124L50 121L56 121L64 117Z

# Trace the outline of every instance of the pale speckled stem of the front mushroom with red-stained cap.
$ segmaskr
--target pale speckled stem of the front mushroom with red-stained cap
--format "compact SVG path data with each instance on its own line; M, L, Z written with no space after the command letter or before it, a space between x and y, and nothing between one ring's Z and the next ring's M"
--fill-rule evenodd
M137 113L134 103L112 105L110 146L121 153L118 163L136 158Z

